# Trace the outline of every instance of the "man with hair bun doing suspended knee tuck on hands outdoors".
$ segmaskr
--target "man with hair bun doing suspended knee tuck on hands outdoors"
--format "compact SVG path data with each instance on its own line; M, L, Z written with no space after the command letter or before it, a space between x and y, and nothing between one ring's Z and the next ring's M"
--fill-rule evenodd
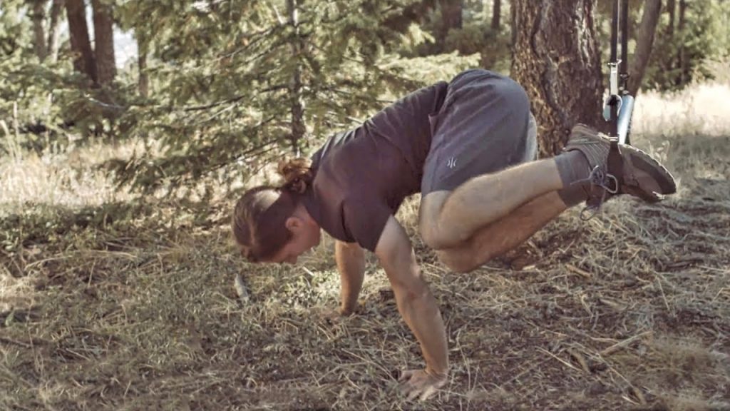
M420 343L426 368L401 374L410 397L445 384L445 328L420 274L410 238L394 215L421 193L419 231L453 271L472 271L518 246L571 206L589 209L629 194L647 201L676 191L648 154L623 146L607 164L610 141L573 129L564 154L535 160L529 101L510 78L469 70L409 94L360 127L331 137L312 157L280 165L285 184L259 186L239 200L233 232L249 260L296 263L320 241L337 239L342 314L356 307L364 249L391 282L399 312Z

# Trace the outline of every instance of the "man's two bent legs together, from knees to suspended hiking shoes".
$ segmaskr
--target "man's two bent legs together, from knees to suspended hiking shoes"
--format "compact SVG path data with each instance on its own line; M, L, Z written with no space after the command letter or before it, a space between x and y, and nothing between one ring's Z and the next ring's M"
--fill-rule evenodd
M566 150L552 159L477 176L453 192L425 195L419 218L423 240L442 250L439 255L455 269L467 271L517 246L583 200L597 208L612 195L656 202L676 192L669 171L631 146L621 148L621 162L609 170L609 141L583 125L573 129Z

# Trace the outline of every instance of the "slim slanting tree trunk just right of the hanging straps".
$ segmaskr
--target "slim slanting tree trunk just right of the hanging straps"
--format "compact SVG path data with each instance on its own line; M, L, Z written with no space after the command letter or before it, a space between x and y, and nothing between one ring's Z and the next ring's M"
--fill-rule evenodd
M646 65L649 62L651 49L654 45L654 34L656 33L659 15L661 15L661 0L645 0L644 12L637 31L637 48L634 52L634 59L631 61L631 69L629 69L629 74L631 74L629 94L632 96L637 95L641 87Z

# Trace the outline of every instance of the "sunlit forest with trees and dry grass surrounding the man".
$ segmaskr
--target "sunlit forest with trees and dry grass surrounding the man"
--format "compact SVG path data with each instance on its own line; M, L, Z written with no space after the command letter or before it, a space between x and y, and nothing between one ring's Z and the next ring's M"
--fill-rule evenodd
M554 154L601 123L612 1L2 0L0 408L730 409L730 2L629 5L634 142L680 191L568 213L471 276L404 205L453 362L412 405L391 372L418 348L377 263L332 323L331 241L248 265L231 203L470 67L526 87Z

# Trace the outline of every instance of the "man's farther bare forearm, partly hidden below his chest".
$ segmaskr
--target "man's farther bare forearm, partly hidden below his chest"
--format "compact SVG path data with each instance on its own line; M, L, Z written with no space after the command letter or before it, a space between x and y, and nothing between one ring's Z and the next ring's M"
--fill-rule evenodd
M358 295L365 274L365 252L356 243L337 241L334 244L334 259L339 271L339 290L342 304L339 313L350 315L358 305Z

